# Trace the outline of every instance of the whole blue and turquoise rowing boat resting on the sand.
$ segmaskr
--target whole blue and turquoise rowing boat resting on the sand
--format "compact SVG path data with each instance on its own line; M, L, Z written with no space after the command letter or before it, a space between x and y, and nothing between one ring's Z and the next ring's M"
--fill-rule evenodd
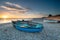
M30 21L12 21L13 26L25 32L41 32L43 30L43 24L30 22Z

